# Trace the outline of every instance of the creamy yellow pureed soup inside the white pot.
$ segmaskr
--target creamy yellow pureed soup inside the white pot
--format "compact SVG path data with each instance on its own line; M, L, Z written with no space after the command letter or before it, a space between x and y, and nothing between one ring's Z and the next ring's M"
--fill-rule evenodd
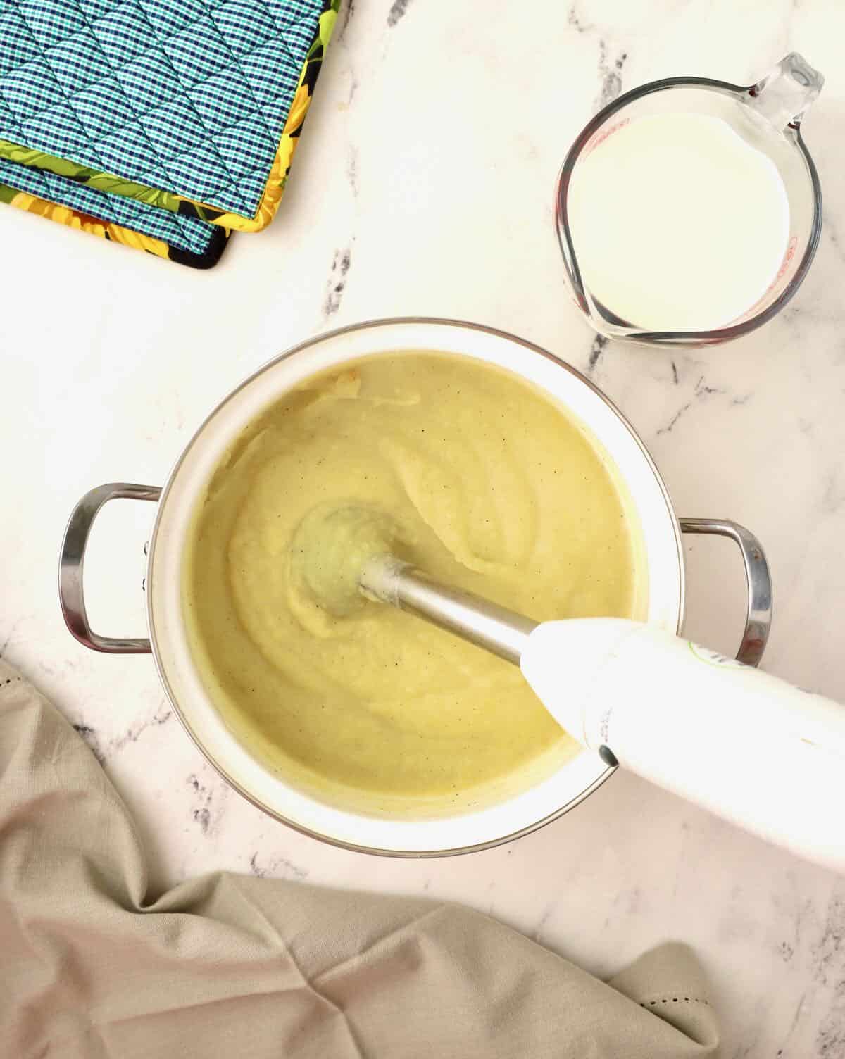
M435 579L537 621L644 616L639 527L578 424L480 361L370 357L262 415L195 514L188 639L236 738L324 802L417 818L575 754L516 666L383 604L337 613L303 591L309 517L347 506L388 517L397 554Z

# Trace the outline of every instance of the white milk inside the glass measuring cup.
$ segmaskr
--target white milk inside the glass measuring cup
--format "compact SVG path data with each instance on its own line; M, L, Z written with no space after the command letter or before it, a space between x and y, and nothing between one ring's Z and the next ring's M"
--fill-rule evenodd
M714 330L742 316L789 240L775 164L706 114L651 114L612 129L578 160L567 210L587 289L654 331Z

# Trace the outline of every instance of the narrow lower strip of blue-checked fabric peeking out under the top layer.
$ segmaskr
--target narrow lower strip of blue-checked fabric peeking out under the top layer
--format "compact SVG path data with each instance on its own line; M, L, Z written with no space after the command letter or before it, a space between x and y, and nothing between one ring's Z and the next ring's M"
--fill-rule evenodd
M5 159L0 159L0 184L7 184L51 202L59 202L94 217L102 217L106 213L108 219L115 225L151 235L193 254L202 254L212 238L219 234L216 226L203 220L180 217L165 210L150 210L134 199L92 191L65 177L17 165ZM104 205L107 207L105 211Z

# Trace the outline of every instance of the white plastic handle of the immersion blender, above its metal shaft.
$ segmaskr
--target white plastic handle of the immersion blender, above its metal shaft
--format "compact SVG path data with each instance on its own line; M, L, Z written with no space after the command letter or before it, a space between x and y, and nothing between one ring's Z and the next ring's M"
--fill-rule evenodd
M845 706L625 618L543 623L520 665L608 764L845 870Z

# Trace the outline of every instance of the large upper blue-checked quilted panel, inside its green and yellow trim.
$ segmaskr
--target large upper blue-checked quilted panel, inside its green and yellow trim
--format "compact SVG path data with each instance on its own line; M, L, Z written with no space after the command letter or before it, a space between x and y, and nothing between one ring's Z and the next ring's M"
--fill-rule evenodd
M0 0L0 139L252 217L322 8Z

